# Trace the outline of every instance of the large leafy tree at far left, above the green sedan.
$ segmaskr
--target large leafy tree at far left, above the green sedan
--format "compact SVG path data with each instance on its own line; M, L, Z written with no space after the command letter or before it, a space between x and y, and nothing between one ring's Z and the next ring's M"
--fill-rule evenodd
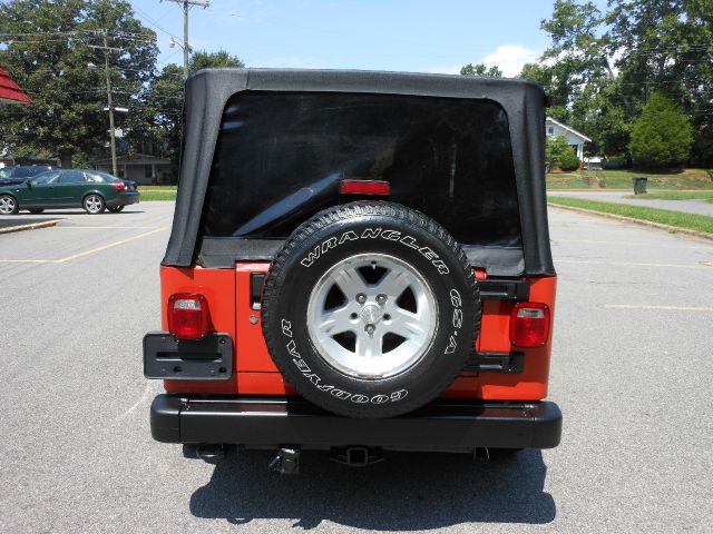
M108 140L104 34L116 106L153 73L156 34L126 0L12 0L0 4L2 63L35 106L0 108L0 138L14 155L86 160ZM88 68L89 65L98 69ZM117 126L123 126L117 117Z

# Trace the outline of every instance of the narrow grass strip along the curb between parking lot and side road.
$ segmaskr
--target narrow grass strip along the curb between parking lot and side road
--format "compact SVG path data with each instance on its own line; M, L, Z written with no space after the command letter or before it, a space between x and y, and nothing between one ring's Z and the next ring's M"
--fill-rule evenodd
M683 211L645 208L643 206L599 202L582 198L547 197L547 201L556 205L593 209L605 214L621 215L623 217L649 220L652 222L660 222L662 225L674 226L676 228L688 228L691 230L713 234L713 217L706 217L705 215L684 214Z

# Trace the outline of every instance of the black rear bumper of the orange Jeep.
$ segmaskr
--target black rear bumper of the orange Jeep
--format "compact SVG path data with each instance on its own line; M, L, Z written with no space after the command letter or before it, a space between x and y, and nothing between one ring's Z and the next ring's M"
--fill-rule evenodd
M476 447L551 448L561 412L554 403L439 399L400 417L352 419L299 397L158 395L152 435L164 443L229 443L246 448L284 445L387 451L471 452Z

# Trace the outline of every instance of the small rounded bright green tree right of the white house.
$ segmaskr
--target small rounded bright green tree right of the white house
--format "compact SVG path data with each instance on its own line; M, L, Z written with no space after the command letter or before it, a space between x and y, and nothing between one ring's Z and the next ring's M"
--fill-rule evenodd
M683 108L654 92L632 127L634 162L652 168L675 166L688 159L692 144L693 128Z

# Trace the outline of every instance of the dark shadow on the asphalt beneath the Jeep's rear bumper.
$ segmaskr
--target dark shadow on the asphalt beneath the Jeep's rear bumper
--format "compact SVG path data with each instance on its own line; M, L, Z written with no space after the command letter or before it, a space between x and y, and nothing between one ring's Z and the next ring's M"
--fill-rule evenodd
M417 531L469 522L545 524L555 501L545 493L540 451L480 462L468 455L392 453L387 462L353 468L326 453L303 453L301 473L267 471L267 452L242 452L216 463L211 481L191 497L191 513L246 524L295 520L314 528L324 520L368 531Z

